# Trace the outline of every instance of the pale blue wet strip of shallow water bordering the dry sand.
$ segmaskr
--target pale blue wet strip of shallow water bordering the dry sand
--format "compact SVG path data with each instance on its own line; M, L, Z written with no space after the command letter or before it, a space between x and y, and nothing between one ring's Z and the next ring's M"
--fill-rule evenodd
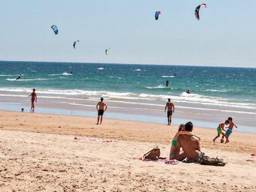
M84 110L83 107L77 106L76 104L68 105L67 103L65 103L66 104L65 107L67 106L67 108L62 108L64 105L63 105L63 103L60 102L56 108L50 108L50 107L52 107L52 103L50 103L50 105L49 105L49 103L46 105L46 101L47 100L43 101L44 107L40 107L40 105L39 105L39 107L35 106L35 111L38 111L38 114L53 114L53 115L67 115L67 116L71 115L71 116L97 118L97 113L96 113L95 107L93 105L92 106L87 105L86 106L87 110ZM53 102L54 104L58 104L55 101L51 101L51 100L48 102ZM24 105L23 105L23 103L20 103L20 101L16 102L16 103L0 102L0 108L1 108L1 110L5 110L5 111L20 112L20 109L24 108ZM164 117L165 113L163 114L164 116L163 115L158 116L158 115L153 115L153 114L142 115L140 113L141 111L139 111L138 113L129 113L129 112L126 112L125 110L121 110L121 112L117 112L115 110L109 111L109 109L111 109L111 108L113 108L113 107L108 106L108 111L104 114L105 119L121 120L121 121L124 120L124 121L141 122L141 123L157 123L160 125L165 125L167 122L167 118ZM26 110L25 110L24 113L30 113L30 112L26 112ZM219 124L218 122L210 122L210 121L208 121L208 119L198 119L197 116L194 116L193 118L187 118L186 117L187 113L183 114L180 112L176 112L174 115L178 116L177 118L175 116L172 118L172 125L174 125L174 126L179 126L182 122L192 121L192 122L194 122L195 125L197 125L196 127L216 129ZM204 116L207 117L207 114L204 114ZM242 126L239 124L237 124L237 125L239 126L237 129L235 129L235 131L237 131L237 132L256 133L255 127Z

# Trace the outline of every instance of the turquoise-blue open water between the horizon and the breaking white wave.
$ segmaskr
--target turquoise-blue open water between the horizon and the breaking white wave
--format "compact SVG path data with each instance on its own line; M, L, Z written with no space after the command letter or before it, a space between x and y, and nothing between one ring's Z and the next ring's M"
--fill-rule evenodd
M189 89L201 99L212 96L256 104L256 68L41 62L0 62L0 68L1 91L36 87L45 92L62 90L60 94L66 90L70 94L108 91L116 96L145 94L151 98L154 96L149 95L181 96ZM71 70L73 75L68 75ZM22 78L15 81L18 74ZM170 81L168 89L166 79Z

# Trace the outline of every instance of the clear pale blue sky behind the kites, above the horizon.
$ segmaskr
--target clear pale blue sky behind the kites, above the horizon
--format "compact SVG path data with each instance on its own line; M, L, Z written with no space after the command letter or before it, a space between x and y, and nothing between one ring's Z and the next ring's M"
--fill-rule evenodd
M207 8L197 21L200 3ZM256 67L255 7L256 0L0 0L0 61Z

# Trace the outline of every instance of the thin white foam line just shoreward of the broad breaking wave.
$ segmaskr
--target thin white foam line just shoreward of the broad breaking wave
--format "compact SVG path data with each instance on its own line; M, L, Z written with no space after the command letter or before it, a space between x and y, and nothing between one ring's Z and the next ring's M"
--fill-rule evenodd
M27 97L25 95L5 95L5 94L0 94L0 96L19 96L19 97ZM58 99L67 99L67 100L88 100L88 101L98 101L98 99L83 99L83 98L69 98L69 97L62 97L62 96L40 96L41 98L58 98ZM107 99L106 99L107 100ZM107 100L107 102L119 102L119 103L124 103L125 101L113 101L113 100ZM65 102L64 102L65 103ZM161 104L151 104L151 103L138 103L138 102L125 102L128 104L137 104L137 105L150 105L150 106L160 106L160 107L165 107L165 105ZM194 103L194 102L193 102ZM199 102L198 102L199 103ZM201 104L201 103L199 103ZM77 105L79 105L77 103ZM87 105L84 105L87 106ZM88 105L91 106L91 105ZM223 106L223 105L222 105ZM221 112L228 112L228 113L242 113L242 114L251 114L251 115L256 115L256 112L247 112L247 111L232 111L232 110L223 110L223 109L210 109L210 108L200 108L200 107L184 107L184 106L179 106L175 105L177 108L184 108L184 109L196 109L196 110L206 110L206 111L221 111ZM116 107L118 108L118 107ZM124 108L130 108L130 107L124 107ZM240 108L243 108L242 106ZM145 108L133 108L133 109L145 109ZM150 109L150 110L159 110L159 109ZM159 110L161 111L161 110Z

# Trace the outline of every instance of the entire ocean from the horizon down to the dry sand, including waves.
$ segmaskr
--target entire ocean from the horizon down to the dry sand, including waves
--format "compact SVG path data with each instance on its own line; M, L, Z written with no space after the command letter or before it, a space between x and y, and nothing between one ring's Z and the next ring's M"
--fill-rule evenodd
M256 131L256 68L2 61L0 69L4 110L24 107L28 112L27 96L35 88L35 112L38 108L45 113L96 116L102 96L109 118L165 124L164 107L171 98L174 124L193 121L217 128L232 116L237 130Z

